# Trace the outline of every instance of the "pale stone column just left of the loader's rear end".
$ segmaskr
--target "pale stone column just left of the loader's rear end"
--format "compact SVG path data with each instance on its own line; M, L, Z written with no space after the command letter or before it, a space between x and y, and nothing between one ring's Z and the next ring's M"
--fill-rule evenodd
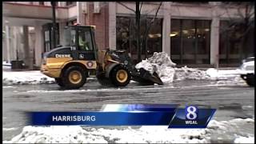
M42 26L39 24L34 26L34 32L35 32L35 46L34 46L35 64L36 66L41 66L42 52L43 52Z

